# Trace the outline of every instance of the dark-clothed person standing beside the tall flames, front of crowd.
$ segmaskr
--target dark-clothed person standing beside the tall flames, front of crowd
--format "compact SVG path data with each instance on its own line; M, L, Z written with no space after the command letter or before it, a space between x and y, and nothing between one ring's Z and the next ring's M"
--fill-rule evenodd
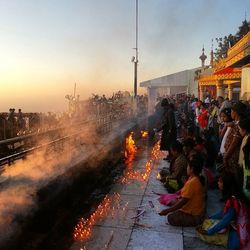
M162 115L162 130L160 150L168 151L168 158L170 159L170 145L176 141L177 132L176 132L176 123L175 123L175 114L173 106L169 104L168 99L164 98L161 101L161 106L163 107Z

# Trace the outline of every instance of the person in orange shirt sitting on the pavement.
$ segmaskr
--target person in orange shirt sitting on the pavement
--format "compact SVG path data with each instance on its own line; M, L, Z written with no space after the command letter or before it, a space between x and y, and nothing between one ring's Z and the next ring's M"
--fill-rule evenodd
M205 181L201 176L203 158L200 153L191 157L188 163L187 182L181 189L180 198L159 215L168 215L168 223L173 226L197 226L205 217Z

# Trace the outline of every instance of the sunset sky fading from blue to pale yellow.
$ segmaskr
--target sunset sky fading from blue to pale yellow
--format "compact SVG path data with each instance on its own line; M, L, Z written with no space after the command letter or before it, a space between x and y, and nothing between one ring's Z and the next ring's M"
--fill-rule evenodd
M138 2L138 83L200 66L203 45L250 20L249 0ZM75 84L81 99L132 92L135 3L0 0L0 112L64 111Z

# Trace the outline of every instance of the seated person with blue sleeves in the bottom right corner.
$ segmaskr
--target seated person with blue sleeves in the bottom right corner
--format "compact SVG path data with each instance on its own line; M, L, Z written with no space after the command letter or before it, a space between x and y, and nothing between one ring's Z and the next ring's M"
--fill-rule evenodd
M248 208L244 203L244 197L238 183L236 174L230 172L222 173L218 185L224 197L226 197L226 203L223 211L210 217L210 219L219 221L206 230L202 226L198 227L197 231L201 235L214 235L223 229L225 231L229 230L228 249L250 249L249 212L247 211ZM220 237L220 234L217 235ZM201 239L209 242L210 238L201 237Z

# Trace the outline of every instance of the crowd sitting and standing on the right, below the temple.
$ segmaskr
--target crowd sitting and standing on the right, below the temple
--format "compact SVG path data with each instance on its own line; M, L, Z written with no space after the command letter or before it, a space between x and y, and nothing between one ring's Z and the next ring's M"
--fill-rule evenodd
M154 126L153 126L154 125ZM167 152L158 175L168 191L159 215L174 226L197 226L200 238L228 249L250 249L250 106L223 97L163 98L149 117ZM218 184L217 184L218 183ZM218 185L218 186L217 186ZM206 214L207 190L219 187L224 209Z

